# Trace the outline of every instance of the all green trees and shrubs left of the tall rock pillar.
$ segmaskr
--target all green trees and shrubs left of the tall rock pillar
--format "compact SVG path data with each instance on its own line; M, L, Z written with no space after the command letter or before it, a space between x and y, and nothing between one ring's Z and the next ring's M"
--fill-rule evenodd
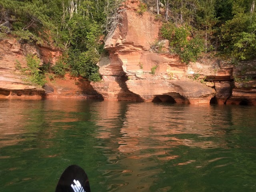
M0 25L0 32L11 32L20 42L42 44L42 39L46 39L68 53L66 61L58 61L51 69L43 65L40 74L52 70L55 76L64 77L70 70L74 76L98 81L96 63L103 49L99 39L103 36L101 26L106 19L106 1L73 2L74 5L68 0L2 0L0 24L2 21L7 24ZM119 4L112 0L107 3L108 6Z

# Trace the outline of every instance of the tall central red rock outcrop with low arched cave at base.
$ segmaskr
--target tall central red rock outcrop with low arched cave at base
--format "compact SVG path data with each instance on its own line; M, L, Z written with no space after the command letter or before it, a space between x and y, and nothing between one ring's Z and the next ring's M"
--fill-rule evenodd
M91 83L94 89L105 100L209 104L215 90L188 78L189 72L195 73L191 67L177 56L152 52L162 23L153 14L140 16L134 9L122 16L122 25L106 37L109 56L98 63L103 80ZM168 49L167 40L164 48Z

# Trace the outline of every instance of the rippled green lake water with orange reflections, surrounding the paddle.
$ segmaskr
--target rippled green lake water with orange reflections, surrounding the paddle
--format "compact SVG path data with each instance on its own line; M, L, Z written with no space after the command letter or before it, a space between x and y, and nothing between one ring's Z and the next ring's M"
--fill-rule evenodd
M255 192L255 106L0 100L0 191Z

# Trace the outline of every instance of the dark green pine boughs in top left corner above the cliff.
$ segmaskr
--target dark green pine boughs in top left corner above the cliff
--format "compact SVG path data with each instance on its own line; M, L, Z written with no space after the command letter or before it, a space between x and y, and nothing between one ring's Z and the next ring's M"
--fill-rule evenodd
M46 15L46 4L42 0L1 0L0 7L8 32L17 36L19 40L42 43L39 30L43 26L51 26Z

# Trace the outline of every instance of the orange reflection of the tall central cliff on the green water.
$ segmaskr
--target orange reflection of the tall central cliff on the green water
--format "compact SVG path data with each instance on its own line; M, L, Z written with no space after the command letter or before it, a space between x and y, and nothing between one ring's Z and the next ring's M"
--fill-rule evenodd
M240 132L229 129L236 121L232 115L236 109L226 106L102 102L96 110L99 116L96 125L100 127L96 137L106 140L103 148L113 150L112 154L106 154L109 162L125 167L112 173L118 180L109 191L118 191L124 185L127 185L125 191L136 188L150 191L157 175L164 173L159 167L161 162L175 159L173 165L181 166L196 161L182 160L177 152L179 147L229 148L227 134ZM222 158L226 157L219 159ZM213 161L216 159L208 163ZM160 189L166 190L170 188Z

